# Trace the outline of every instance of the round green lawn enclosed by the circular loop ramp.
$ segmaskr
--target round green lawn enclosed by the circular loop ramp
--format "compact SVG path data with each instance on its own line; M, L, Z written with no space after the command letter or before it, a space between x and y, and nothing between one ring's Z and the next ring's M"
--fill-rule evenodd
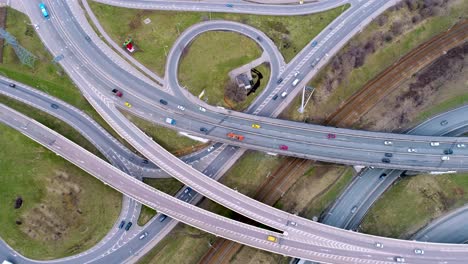
M195 96L204 90L203 99L207 99L208 104L229 107L224 102L229 71L260 56L261 50L249 38L231 32L207 32L190 44L179 66L179 82ZM262 80L264 87L268 82L266 78L270 76L269 69L262 67L258 70L265 75ZM242 105L248 106L255 96L248 98L248 102Z

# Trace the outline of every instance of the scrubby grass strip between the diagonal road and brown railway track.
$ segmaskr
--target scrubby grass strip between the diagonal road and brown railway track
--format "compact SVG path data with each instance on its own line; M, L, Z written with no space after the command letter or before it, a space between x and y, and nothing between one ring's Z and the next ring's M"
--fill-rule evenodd
M444 2L445 3L445 2ZM398 59L466 18L468 3L452 0L402 1L380 15L356 35L324 70L312 80L316 91L304 114L296 109L299 96L284 116L307 122L323 122L347 98Z

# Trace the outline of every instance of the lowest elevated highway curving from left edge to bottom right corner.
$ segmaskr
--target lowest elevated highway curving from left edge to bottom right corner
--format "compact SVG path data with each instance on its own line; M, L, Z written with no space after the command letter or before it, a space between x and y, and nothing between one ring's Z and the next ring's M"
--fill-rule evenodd
M325 227L328 230L315 232L316 235L294 234L295 228L305 224L304 219L296 222L297 225L289 224L291 227L288 229L289 233L283 234L241 224L152 189L47 127L2 105L0 105L0 120L140 202L187 224L246 245L323 263L386 263L392 261L395 255L405 255L411 263L468 261L465 254L466 247L462 245L449 246L378 238L319 224L316 226ZM266 240L268 235L273 235L278 240L269 242ZM337 236L341 239L330 240L324 236L329 238ZM353 237L360 239L355 240ZM383 243L385 248L375 248L376 241ZM407 249L404 250L402 246ZM414 255L411 253L414 248L423 248L426 254L423 257Z

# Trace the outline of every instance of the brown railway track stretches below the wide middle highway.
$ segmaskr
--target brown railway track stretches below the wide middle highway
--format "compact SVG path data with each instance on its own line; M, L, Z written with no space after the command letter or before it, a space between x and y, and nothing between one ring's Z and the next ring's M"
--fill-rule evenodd
M257 188L254 199L268 205L273 205L312 164L313 161L311 160L288 158L281 167L268 176L263 184ZM254 222L249 222L249 224L252 223ZM198 263L229 263L241 247L241 244L218 238Z

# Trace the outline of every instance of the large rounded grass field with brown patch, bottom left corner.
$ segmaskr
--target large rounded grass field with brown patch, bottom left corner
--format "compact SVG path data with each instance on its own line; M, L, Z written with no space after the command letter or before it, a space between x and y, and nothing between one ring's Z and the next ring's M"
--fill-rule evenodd
M94 246L112 227L122 196L27 137L0 124L0 236L34 259ZM14 209L15 200L23 205ZM21 224L17 224L21 221Z

